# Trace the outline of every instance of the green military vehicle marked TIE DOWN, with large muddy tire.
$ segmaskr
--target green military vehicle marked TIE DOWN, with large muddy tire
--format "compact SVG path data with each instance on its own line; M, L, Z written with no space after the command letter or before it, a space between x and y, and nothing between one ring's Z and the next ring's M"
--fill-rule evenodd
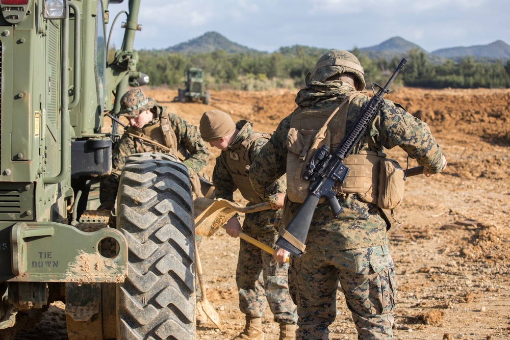
M185 166L133 155L120 177L117 224L78 216L90 182L111 171L104 113L118 113L127 85L143 79L133 50L140 0L113 20L127 14L122 47L106 62L110 6L120 2L0 0L2 339L58 300L71 340L195 338Z

